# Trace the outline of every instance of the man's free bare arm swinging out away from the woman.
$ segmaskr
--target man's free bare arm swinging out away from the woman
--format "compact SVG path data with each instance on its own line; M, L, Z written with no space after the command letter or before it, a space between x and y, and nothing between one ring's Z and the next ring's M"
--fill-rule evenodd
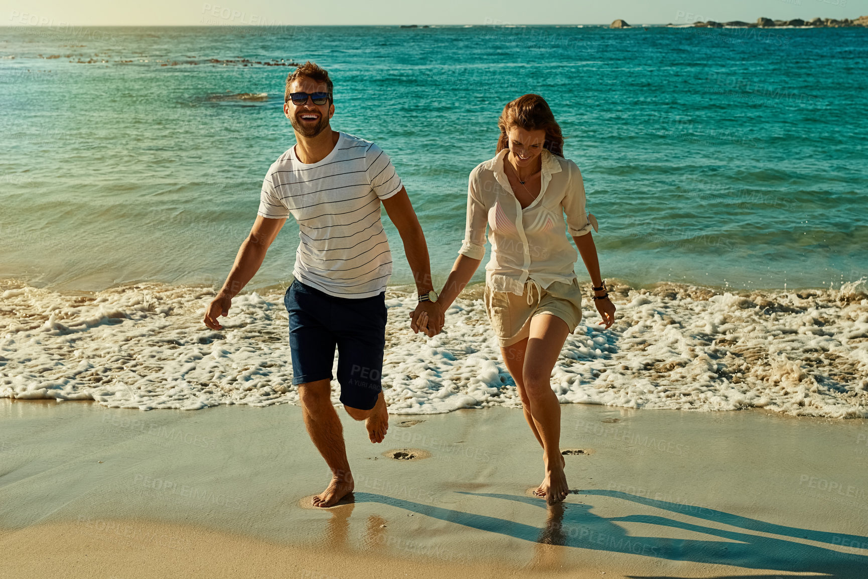
M250 234L241 243L238 255L235 256L232 271L229 272L229 276L223 283L223 287L220 288L220 292L217 293L217 296L211 301L211 304L205 311L205 318L202 321L206 326L212 330L223 329L217 318L229 315L229 307L232 306L233 297L244 286L247 286L247 282L253 279L253 275L259 271L262 260L265 260L268 247L271 246L284 223L286 223L286 219L269 219L261 215L256 216L256 221L253 222Z

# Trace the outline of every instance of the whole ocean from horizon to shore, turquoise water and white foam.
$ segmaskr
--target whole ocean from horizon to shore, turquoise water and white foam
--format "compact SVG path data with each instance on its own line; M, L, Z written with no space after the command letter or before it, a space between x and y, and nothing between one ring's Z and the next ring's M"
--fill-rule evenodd
M292 221L248 286L258 293L236 300L244 323L206 332L197 312L253 223L267 168L294 144L287 65L309 59L335 82L332 128L391 156L437 283L503 104L548 100L625 306L596 332L585 304L559 362L562 402L866 416L868 30L2 30L0 396L292 401L291 369L275 369L288 366L285 323L266 324L286 317ZM411 274L385 221L402 337L387 355L391 411L514 404L478 302L451 311L464 330L425 340L404 328Z

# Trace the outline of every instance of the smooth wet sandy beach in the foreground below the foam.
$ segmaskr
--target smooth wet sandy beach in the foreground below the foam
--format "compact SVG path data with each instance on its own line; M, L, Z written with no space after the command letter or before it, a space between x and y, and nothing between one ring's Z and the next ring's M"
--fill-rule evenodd
M527 492L542 467L517 409L393 416L378 445L345 419L354 502L316 510L327 472L297 406L0 400L0 416L4 577L858 577L868 564L864 419L562 405L574 493L552 509ZM419 458L389 455L402 450Z

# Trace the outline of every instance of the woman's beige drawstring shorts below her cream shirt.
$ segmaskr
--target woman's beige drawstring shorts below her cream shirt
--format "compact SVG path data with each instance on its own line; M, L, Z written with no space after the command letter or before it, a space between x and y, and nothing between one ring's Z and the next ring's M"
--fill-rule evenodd
M572 284L553 281L542 293L532 282L528 282L523 295L493 292L490 286L485 286L485 311L501 347L527 338L530 335L530 319L541 313L556 315L567 323L572 333L582 321L582 290L579 289L578 280L573 280Z

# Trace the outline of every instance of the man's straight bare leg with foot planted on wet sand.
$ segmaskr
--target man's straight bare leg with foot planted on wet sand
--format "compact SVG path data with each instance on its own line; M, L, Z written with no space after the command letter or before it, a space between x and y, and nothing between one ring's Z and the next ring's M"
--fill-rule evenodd
M299 398L307 434L332 470L332 482L313 497L313 506L331 507L350 494L353 488L350 463L346 459L344 427L332 406L331 381L299 384Z

